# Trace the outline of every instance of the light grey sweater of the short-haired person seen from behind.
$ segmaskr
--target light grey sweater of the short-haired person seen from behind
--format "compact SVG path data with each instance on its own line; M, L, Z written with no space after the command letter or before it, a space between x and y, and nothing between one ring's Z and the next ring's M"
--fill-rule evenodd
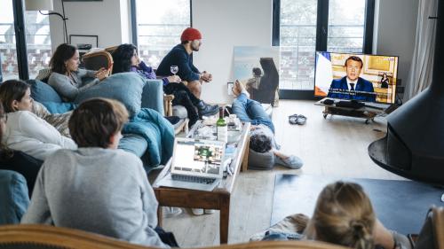
M44 161L22 223L45 223L168 247L155 232L158 202L138 157L122 150L59 150Z

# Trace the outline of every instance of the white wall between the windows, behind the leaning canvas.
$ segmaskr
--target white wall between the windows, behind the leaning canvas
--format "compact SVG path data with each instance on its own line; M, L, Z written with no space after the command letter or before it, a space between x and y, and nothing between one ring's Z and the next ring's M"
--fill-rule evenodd
M272 0L193 0L193 27L202 33L194 65L213 74L202 87L202 99L231 103L226 82L233 82L234 46L270 46Z

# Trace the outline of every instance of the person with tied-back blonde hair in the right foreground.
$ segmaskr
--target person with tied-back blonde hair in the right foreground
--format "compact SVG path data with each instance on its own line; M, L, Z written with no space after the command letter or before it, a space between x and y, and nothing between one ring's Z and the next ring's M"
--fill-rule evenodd
M294 214L265 234L268 235L263 240L312 239L354 249L412 248L408 237L387 230L377 220L369 196L361 185L342 181L324 187L311 219L304 214ZM257 236L251 240L257 240Z

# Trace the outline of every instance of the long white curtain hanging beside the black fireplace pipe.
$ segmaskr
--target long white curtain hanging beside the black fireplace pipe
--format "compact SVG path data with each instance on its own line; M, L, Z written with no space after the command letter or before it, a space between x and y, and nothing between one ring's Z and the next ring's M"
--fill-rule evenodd
M435 51L436 17L439 0L419 0L416 22L415 51L408 74L404 102L415 97L432 83Z

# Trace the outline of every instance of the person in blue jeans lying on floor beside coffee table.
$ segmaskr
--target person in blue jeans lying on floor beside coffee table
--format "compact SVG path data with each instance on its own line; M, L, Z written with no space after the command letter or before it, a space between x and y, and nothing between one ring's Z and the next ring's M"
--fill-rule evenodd
M273 152L274 163L284 167L297 169L303 162L297 156L280 152L280 145L274 139L274 124L258 101L250 99L250 95L242 83L234 83L233 113L241 120L251 123L250 149L258 153Z

